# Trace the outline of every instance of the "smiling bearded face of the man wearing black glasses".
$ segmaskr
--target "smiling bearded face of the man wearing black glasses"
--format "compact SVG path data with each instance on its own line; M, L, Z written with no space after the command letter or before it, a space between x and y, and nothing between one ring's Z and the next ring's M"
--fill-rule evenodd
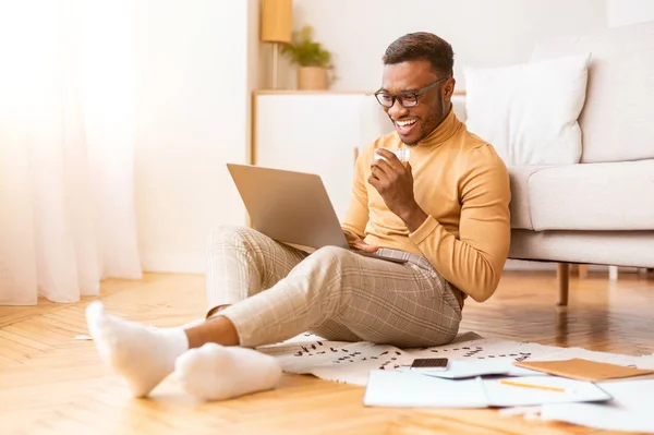
M446 95L449 96L450 92L444 88L453 87L453 78L438 74L426 60L384 67L382 94L411 95L427 86L429 88L417 96L417 104L413 107L403 107L400 98L396 98L391 107L384 107L400 138L409 146L429 135L447 116L450 105ZM412 99L415 100L413 97L404 98L404 106L409 106L407 101Z

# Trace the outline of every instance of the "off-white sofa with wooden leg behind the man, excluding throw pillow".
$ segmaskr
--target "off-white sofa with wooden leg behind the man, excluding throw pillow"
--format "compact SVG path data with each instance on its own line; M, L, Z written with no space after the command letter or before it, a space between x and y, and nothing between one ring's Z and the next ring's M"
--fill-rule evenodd
M577 165L509 167L511 258L654 267L654 23L540 44L591 52ZM559 301L568 300L567 267Z

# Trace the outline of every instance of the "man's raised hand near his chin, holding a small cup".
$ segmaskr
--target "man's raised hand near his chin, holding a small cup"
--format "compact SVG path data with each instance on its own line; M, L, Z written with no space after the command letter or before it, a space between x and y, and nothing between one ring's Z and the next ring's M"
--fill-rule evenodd
M395 153L377 149L384 159L375 159L371 164L368 183L382 195L388 209L400 217L409 231L413 232L427 219L427 214L420 208L413 196L413 174L411 165L402 164Z

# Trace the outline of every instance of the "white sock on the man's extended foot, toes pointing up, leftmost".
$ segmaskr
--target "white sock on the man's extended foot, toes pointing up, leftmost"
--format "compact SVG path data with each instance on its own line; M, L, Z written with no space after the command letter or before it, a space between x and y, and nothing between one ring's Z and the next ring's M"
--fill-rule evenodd
M147 396L189 349L184 329L157 329L123 321L105 313L100 302L88 305L86 322L100 358L128 380L135 397Z

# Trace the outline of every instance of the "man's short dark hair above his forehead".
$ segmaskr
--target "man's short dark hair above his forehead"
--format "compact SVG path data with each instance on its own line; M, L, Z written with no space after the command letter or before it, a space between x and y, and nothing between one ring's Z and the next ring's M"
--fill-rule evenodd
M445 39L427 32L410 33L393 40L384 57L385 65L426 60L436 72L452 75L455 52L452 46Z

